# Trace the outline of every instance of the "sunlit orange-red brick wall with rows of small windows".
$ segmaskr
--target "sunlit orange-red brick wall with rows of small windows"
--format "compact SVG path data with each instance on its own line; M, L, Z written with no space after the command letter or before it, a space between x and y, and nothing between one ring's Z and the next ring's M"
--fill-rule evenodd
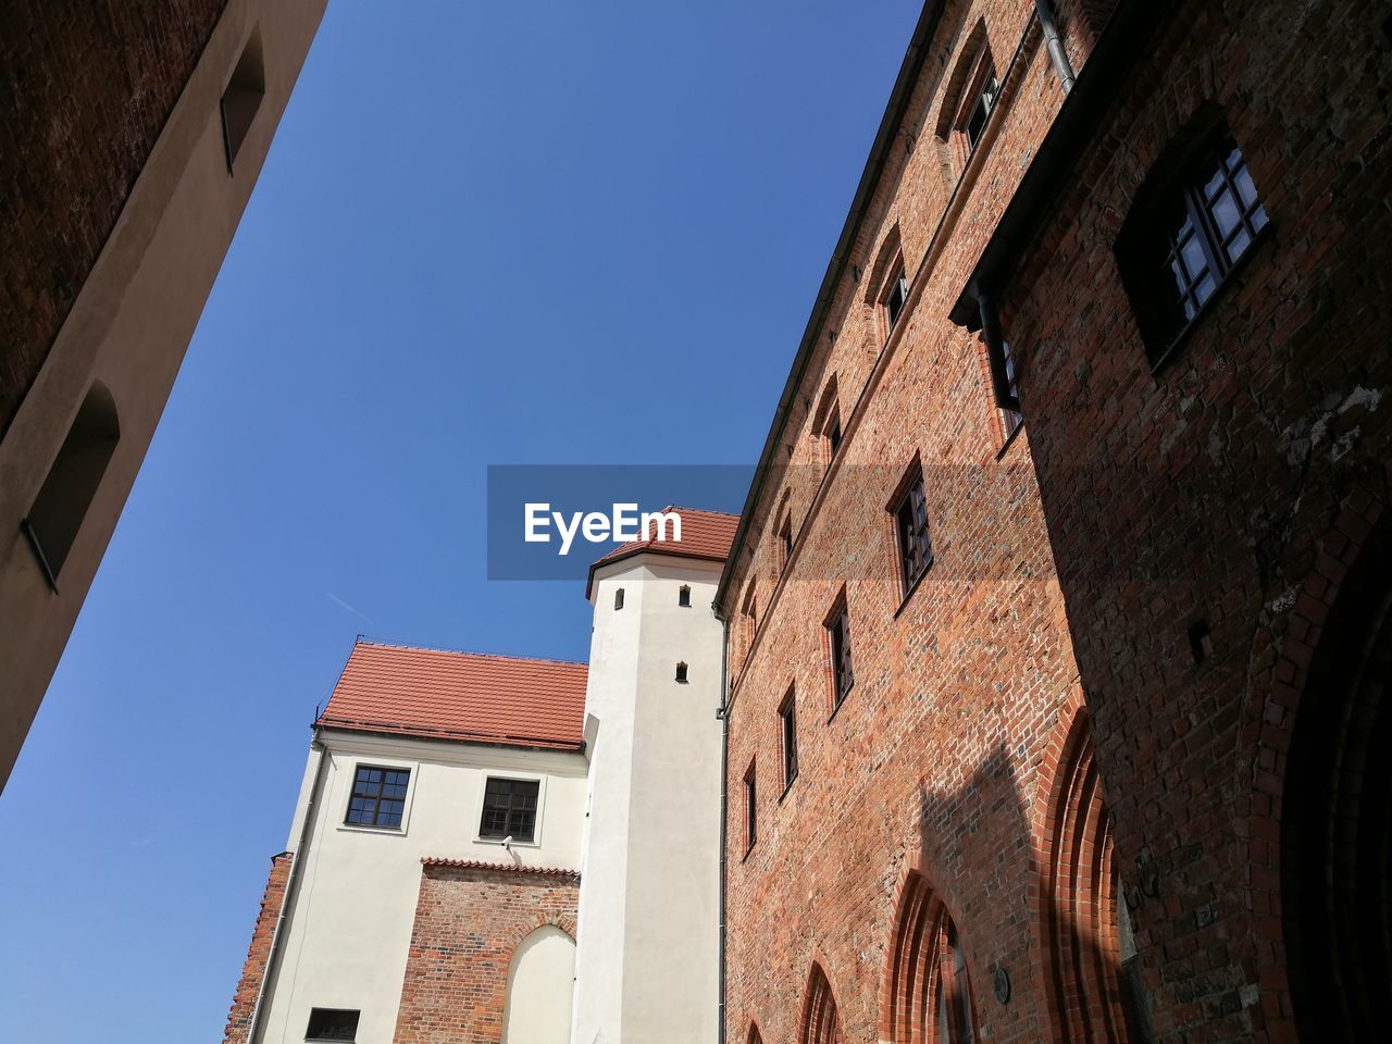
M923 905L903 902L910 881L931 896L920 934L937 938L955 926L979 1038L1048 1036L1034 970L1041 912L1031 810L1051 778L1061 711L1080 695L1031 434L1002 448L983 348L947 319L1018 184L1022 156L1062 100L1031 13L1026 1L947 7L849 259L860 278L848 266L835 290L731 567L725 607L742 606L754 582L760 618L752 644L732 628L727 784L741 795L754 763L759 841L746 856L743 807L734 800L729 1041L745 1040L753 1023L767 1040L825 1036L831 1022L802 1022L832 1004L834 1036L878 1040L894 990L887 955L896 909ZM934 131L955 103L951 85L970 57L963 47L983 39L974 36L983 18L1002 107L965 164L959 142ZM910 305L887 341L876 303L896 249ZM845 441L828 469L814 415L832 379ZM934 564L905 597L887 505L913 461L924 476ZM780 575L775 519L785 496L796 537ZM855 686L832 715L821 624L842 589ZM799 775L782 793L777 709L789 686ZM1013 986L1008 1004L992 992L998 969ZM910 1022L935 1026L931 1012Z

